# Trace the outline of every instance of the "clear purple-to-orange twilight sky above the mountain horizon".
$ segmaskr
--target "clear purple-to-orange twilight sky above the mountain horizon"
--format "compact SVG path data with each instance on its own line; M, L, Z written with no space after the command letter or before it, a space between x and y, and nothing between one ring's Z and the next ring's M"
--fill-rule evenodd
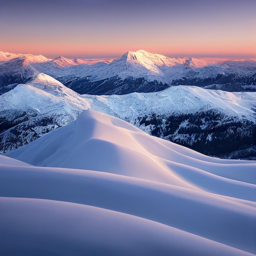
M0 51L256 58L256 0L0 0Z

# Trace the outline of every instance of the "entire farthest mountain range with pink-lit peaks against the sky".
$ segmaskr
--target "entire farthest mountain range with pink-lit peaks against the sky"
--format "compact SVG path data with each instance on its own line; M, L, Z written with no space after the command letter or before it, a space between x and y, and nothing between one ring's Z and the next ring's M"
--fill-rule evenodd
M144 50L112 62L0 52L0 93L39 73L54 77L79 94L157 92L173 85L195 85L229 92L256 91L256 60L204 61L168 58Z

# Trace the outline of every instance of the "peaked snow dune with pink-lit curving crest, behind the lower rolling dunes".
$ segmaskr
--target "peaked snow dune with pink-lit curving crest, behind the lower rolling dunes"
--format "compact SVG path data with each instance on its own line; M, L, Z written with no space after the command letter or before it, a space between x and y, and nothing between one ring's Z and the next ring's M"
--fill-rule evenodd
M104 171L256 200L255 161L207 157L94 110L6 155L35 166Z

